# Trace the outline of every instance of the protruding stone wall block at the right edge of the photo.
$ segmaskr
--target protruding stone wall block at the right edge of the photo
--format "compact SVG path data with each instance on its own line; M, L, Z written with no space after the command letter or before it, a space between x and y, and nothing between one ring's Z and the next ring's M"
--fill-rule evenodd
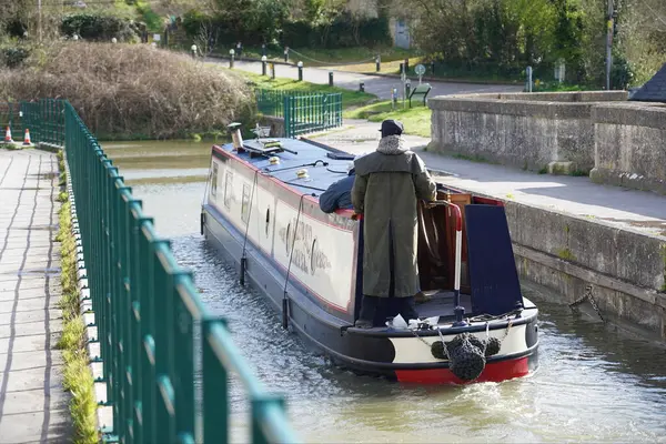
M666 194L666 108L617 103L593 109L594 182Z

